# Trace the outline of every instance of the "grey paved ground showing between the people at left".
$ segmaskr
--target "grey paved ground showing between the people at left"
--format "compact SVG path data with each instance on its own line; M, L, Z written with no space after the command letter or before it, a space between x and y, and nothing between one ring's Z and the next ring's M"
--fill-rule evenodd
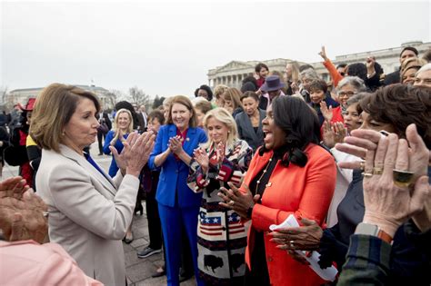
M95 162L99 164L107 173L109 164L111 163L110 156L98 156L97 145L93 145L90 151ZM17 167L5 165L3 169L3 179L15 176L18 174ZM143 202L145 211L145 202ZM165 285L166 277L152 278L151 275L155 270L164 264L162 253L157 253L146 259L139 259L136 256L136 251L141 251L148 244L148 228L146 215L135 215L132 226L135 240L130 244L123 242L125 250L125 272L130 286L144 286L144 285ZM195 278L181 283L182 286L195 285Z

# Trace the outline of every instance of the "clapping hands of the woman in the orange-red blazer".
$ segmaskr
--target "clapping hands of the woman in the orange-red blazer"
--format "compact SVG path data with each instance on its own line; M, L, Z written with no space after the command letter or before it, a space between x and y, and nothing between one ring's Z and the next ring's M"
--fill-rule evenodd
M217 193L217 195L222 198L223 201L225 201L219 202L219 204L226 207L227 209L234 210L241 217L246 219L248 209L255 206L256 202L260 198L260 195L256 194L255 197L253 197L253 194L250 192L246 184L244 185L246 193L240 192L232 182L227 182L227 184L230 187L229 190L227 190L225 187L222 187L220 188L221 192Z

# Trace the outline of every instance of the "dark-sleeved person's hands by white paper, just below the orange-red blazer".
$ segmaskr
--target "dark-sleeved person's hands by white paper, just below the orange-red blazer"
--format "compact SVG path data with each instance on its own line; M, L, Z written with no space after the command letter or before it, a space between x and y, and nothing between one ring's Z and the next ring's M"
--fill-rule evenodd
M270 242L277 243L276 247L285 251L316 251L323 235L322 228L315 221L305 218L301 222L303 226L268 233L273 237Z

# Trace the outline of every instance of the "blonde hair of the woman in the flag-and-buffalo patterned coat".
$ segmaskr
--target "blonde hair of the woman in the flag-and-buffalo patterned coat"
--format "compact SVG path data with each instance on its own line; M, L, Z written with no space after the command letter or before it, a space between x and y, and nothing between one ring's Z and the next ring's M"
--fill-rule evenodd
M216 119L216 121L219 121L221 123L224 123L227 127L227 140L226 140L226 147L227 148L233 148L234 143L238 140L238 130L236 129L236 122L234 117L232 117L232 114L229 113L225 108L223 107L216 107L215 109L210 110L208 113L205 114L204 117L204 128L206 133L208 133L208 120L210 118ZM208 141L202 145L203 148L208 149L213 145L213 140L208 136Z

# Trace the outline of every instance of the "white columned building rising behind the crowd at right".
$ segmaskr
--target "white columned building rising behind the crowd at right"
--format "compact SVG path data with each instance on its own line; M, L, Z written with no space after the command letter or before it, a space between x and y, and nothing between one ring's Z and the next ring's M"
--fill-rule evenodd
M353 63L366 63L366 58L369 56L375 56L376 61L380 64L385 74L390 74L394 72L399 67L399 54L402 49L406 46L413 46L419 52L419 56L424 54L427 50L431 49L431 42L423 43L420 41L417 42L408 42L405 44L401 44L401 46L387 48L383 50L376 51L368 51L357 54L342 54L337 55L336 59L332 60L332 62L337 65L341 63L345 64L353 64ZM293 59L272 59L266 61L231 61L225 65L218 66L216 68L210 69L208 71L208 85L214 89L217 84L226 84L230 87L241 87L241 82L248 75L253 75L255 72L255 66L258 63L264 63L268 66L269 71L278 71L281 73L285 72L286 64L294 61ZM298 62L299 64L306 64ZM322 76L326 81L330 80L330 76L322 64L323 62L311 63L313 67L316 69L316 72Z

